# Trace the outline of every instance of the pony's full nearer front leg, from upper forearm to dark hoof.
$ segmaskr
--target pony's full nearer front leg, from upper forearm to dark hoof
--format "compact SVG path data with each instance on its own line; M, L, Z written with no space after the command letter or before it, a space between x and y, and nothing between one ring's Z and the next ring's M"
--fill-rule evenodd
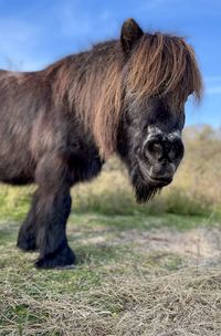
M71 211L69 167L61 157L50 156L36 169L36 248L38 267L62 267L74 263L75 256L66 239L66 220Z

